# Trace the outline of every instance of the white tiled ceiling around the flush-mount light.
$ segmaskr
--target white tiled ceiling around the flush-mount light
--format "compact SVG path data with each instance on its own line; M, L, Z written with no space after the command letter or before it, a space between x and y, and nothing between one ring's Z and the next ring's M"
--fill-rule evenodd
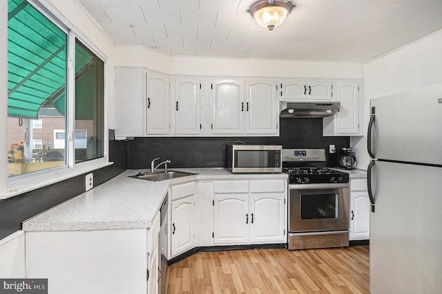
M79 1L116 44L172 56L364 63L442 29L442 0L291 0L273 31L247 12L254 0Z

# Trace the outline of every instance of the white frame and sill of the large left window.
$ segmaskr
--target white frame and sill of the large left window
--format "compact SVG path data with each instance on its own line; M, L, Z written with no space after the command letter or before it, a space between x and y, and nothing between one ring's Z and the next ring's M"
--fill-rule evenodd
M68 78L66 84L66 93L68 93L66 103L66 132L67 132L67 146L66 146L66 165L60 167L52 167L51 169L43 169L41 171L34 171L28 174L22 174L19 176L14 176L8 178L8 169L0 169L0 178L3 177L7 179L6 181L0 181L0 200L10 198L12 196L17 196L21 193L27 191L32 191L46 185L53 184L55 182L61 182L68 178L73 178L81 174L86 174L90 171L100 169L111 165L113 162L108 162L108 58L98 50L95 45L93 45L84 35L78 30L75 25L67 21L57 9L50 6L46 1L39 0L28 0L34 8L39 10L46 18L48 18L52 23L57 25L61 30L68 34ZM7 28L8 25L8 1L1 1L0 3L0 29ZM1 29L3 30L3 29ZM6 32L6 29L5 29ZM8 39L7 34L1 34L0 36L0 51L7 52L8 50ZM97 158L94 160L87 160L84 162L75 163L75 149L74 149L74 138L73 132L75 132L75 72L73 68L73 61L75 61L75 39L81 41L91 52L93 52L99 59L104 61L104 154L102 158ZM4 51L3 51L4 49ZM7 61L0 59L0 76L7 78L8 64ZM6 70L5 70L6 69ZM6 84L6 83L5 83ZM6 85L5 91L7 92ZM1 88L3 89L3 88ZM0 114L3 114L3 121L7 123L8 120L8 99L4 100L3 104L0 106ZM0 116L2 117L2 116ZM3 132L6 132L3 134ZM7 138L8 130L0 131L0 136ZM0 151L2 149L0 148ZM3 147L3 153L6 154L6 149ZM3 158L4 157L4 158ZM2 166L6 167L7 160L6 156L0 159L0 164L4 162Z

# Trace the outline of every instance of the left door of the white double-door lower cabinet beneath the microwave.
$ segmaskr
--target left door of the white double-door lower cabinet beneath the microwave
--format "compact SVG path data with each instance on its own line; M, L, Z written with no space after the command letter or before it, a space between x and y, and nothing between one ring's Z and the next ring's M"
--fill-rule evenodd
M213 244L249 242L249 193L215 194Z

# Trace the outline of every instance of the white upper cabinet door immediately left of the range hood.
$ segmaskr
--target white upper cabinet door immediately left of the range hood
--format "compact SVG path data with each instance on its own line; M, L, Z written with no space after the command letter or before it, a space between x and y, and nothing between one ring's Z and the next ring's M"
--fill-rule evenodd
M278 134L276 81L246 81L246 134Z

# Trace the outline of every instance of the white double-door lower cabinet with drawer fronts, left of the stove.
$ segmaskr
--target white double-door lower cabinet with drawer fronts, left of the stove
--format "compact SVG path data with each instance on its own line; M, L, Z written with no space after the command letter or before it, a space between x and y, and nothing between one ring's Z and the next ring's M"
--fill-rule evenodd
M286 242L286 180L213 182L213 244Z

